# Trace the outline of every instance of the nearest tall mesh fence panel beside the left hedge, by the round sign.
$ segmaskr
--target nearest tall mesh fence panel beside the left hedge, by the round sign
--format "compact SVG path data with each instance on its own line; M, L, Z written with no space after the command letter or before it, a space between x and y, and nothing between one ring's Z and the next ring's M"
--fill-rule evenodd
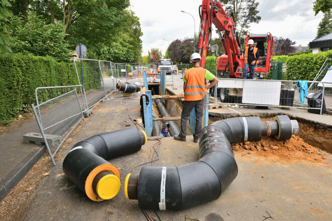
M107 96L99 60L74 58L77 78L83 85L86 108L90 109Z

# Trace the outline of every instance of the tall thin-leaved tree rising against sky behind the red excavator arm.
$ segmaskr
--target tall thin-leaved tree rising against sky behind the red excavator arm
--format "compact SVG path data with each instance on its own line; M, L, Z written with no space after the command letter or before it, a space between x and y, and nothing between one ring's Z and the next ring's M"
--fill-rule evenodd
M252 23L261 21L257 10L259 3L256 0L223 0L222 2L226 13L234 14L234 26L237 28L239 37L244 36Z

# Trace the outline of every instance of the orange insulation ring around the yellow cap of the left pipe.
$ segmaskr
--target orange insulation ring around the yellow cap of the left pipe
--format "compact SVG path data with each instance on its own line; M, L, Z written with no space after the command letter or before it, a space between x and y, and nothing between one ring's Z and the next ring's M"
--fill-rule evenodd
M98 167L93 169L90 172L90 174L88 175L87 179L86 179L85 190L86 190L87 196L91 200L94 200L94 201L97 201L97 202L102 201L104 199L101 198L98 194L95 193L95 191L93 190L93 187L92 187L92 182L94 181L97 174L102 172L102 171L110 171L116 177L118 177L120 179L120 171L118 170L118 168L116 166L114 166L110 163L105 163L105 164L99 165Z

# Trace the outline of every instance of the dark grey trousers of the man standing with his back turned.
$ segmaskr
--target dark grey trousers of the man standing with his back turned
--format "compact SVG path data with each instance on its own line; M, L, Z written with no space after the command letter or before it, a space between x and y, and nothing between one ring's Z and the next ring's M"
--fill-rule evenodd
M187 121L189 115L193 108L195 107L196 113L196 127L195 133L193 134L194 139L199 138L199 133L202 130L202 123L203 123L203 106L204 106L205 97L201 100L190 100L186 101L183 104L182 113L181 113L181 132L179 134L180 137L186 137L187 135Z

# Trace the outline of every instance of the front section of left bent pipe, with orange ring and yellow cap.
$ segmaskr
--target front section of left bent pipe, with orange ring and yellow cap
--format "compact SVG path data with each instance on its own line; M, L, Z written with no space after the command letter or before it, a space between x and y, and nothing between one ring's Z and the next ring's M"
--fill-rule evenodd
M76 147L70 151L63 160L62 169L93 201L112 198L120 189L118 168L87 149Z

